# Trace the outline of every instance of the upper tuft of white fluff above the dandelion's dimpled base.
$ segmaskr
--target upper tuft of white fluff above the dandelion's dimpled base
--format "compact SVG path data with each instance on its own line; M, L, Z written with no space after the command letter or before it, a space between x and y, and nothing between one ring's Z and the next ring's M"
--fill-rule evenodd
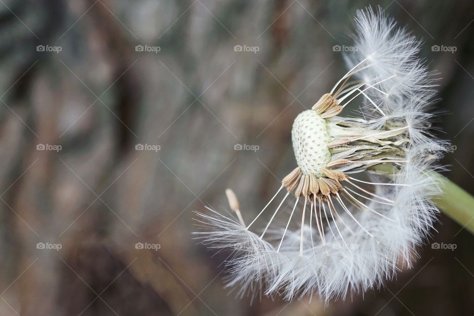
M357 11L355 21L353 38L357 49L345 55L347 65L353 68L368 58L373 66L357 72L356 76L369 83L395 75L377 85L378 89L365 92L386 115L374 113L371 106L364 108L364 114L372 114L378 126L390 119L405 120L410 125L411 137L420 143L430 141L422 134L433 116L427 110L436 94L437 73L429 71L425 61L418 57L422 42L397 27L394 19L387 18L380 7L377 12L371 8ZM424 132L420 134L417 130Z

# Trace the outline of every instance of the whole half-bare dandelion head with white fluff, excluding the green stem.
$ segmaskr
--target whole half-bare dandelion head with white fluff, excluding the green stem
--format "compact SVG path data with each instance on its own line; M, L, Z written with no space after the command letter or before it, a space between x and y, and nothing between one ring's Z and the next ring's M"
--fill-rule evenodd
M381 9L357 11L349 71L295 118L298 166L276 194L249 224L230 190L238 220L197 213L204 228L198 238L233 250L228 286L238 295L310 294L327 302L379 287L412 266L433 228L437 209L429 197L439 189L429 171L445 145L428 129L435 79L417 57L420 45ZM361 117L339 116L359 96Z

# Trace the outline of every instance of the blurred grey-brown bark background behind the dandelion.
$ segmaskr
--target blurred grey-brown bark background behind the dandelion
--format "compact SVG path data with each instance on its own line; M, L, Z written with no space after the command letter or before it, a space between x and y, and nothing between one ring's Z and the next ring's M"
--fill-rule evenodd
M235 299L192 239L226 187L250 219L294 168L368 4L424 39L474 193L472 1L0 0L0 315L473 315L474 237L442 214L414 269L326 310Z

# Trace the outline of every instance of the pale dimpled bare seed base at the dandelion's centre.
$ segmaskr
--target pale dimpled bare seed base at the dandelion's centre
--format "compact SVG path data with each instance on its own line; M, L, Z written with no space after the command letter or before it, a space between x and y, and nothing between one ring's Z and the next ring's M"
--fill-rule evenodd
M326 167L331 159L326 120L314 110L300 113L293 122L291 140L301 172L322 176L321 168Z

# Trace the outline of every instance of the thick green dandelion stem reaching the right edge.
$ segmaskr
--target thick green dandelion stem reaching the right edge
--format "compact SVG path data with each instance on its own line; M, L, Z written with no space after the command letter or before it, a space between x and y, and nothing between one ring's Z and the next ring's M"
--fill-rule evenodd
M442 175L433 172L443 193L432 198L443 213L474 234L474 197Z

